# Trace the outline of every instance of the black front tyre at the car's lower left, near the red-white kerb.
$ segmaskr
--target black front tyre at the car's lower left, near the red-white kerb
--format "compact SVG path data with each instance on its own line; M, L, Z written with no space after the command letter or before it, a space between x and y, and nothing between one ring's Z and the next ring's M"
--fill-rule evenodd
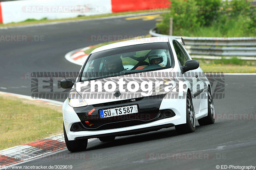
M68 148L68 151L70 152L85 151L87 147L88 139L68 140L64 123L63 123L63 131L64 131L64 139L65 139L65 143Z

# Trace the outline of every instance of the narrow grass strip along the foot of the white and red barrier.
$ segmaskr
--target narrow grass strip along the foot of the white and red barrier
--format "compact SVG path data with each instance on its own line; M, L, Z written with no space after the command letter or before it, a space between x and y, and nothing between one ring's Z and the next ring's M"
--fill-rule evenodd
M22 26L22 25L29 25L29 24L41 24L41 23L49 23L49 22L57 22L57 21L70 21L70 20L79 20L79 19L93 19L93 18L111 17L111 16L117 16L117 15L137 14L137 13L145 13L145 12L157 12L157 11L165 11L165 10L166 9L125 11L125 12L116 12L116 13L111 13L111 14L79 16L79 17L75 17L75 18L63 18L63 19L52 19L52 20L48 20L47 18L42 18L40 20L30 18L25 21L17 22L17 23L9 23L9 24L0 23L0 27L2 27L2 26L4 26L4 27Z

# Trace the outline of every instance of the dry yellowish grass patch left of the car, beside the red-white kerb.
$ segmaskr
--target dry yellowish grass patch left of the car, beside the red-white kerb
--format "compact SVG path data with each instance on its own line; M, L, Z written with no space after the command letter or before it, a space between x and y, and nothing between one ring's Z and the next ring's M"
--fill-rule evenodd
M22 100L0 96L0 150L62 132L61 112Z

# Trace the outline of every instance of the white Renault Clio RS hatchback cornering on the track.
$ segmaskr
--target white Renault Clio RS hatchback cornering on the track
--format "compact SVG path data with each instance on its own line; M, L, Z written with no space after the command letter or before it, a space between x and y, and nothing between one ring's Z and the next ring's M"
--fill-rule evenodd
M70 152L83 151L87 140L175 126L194 132L215 120L209 80L186 49L172 37L152 37L94 49L63 104L63 129Z

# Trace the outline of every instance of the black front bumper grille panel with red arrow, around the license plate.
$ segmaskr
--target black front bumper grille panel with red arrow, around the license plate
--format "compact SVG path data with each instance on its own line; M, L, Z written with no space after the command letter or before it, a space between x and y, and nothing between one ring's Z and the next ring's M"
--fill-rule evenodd
M165 94L74 108L81 120L78 123L80 129L76 131L115 129L154 121L161 114L159 108L164 96ZM135 104L138 106L138 113L100 118L100 110Z

